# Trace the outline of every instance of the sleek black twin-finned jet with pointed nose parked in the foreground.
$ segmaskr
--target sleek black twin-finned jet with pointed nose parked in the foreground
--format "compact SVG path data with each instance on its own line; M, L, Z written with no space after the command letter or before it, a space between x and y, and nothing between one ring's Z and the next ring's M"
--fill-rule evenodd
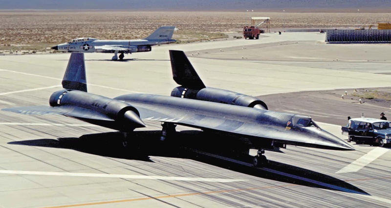
M107 98L87 92L84 54L72 52L63 79L64 90L54 92L50 106L2 110L28 115L59 114L124 133L123 145L131 142L142 120L162 122L161 140L176 125L245 138L259 149L254 166L267 162L264 148L286 145L354 150L345 141L321 129L308 116L267 110L260 99L223 89L206 87L183 51L170 50L175 87L171 96L128 94ZM226 144L227 145L227 144Z

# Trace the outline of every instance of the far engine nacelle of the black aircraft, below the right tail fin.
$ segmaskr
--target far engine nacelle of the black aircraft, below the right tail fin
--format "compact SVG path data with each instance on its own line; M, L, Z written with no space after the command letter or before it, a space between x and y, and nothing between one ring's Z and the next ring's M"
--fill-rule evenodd
M240 94L237 92L205 87L202 89L190 89L178 86L171 92L172 97L188 98L193 100L209 101L214 103L232 104L245 107L253 107L267 110L267 105L258 98Z

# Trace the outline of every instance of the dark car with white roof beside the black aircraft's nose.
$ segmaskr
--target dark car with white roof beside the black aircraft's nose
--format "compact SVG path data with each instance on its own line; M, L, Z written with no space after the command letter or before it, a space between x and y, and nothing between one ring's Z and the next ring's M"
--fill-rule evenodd
M348 142L385 146L391 143L391 122L373 118L350 119L342 133L348 131Z

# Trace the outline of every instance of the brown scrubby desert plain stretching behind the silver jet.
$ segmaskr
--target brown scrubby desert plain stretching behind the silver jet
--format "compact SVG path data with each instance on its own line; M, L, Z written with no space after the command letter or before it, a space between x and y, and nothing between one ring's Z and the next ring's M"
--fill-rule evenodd
M232 39L251 17L270 17L271 31L287 28L358 28L388 22L391 13L0 11L0 53L50 51L74 38L140 39L175 25L178 43ZM262 26L262 25L261 25ZM240 36L241 37L241 36Z

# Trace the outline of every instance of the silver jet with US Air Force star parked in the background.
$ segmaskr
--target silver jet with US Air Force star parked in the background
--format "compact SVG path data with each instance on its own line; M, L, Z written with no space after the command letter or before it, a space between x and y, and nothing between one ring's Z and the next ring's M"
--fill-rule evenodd
M51 47L51 49L66 52L83 53L114 53L111 60L124 59L124 53L148 52L152 45L176 42L173 37L175 26L157 28L150 36L138 40L98 40L95 38L77 38L70 42ZM120 53L119 56L118 53Z

